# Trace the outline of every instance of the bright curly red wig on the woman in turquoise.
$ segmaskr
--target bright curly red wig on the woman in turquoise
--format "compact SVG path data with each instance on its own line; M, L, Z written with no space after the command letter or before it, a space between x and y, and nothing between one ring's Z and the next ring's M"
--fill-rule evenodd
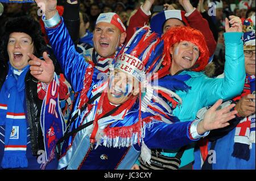
M172 58L170 48L180 41L189 41L199 47L199 58L195 65L191 68L192 71L203 71L209 60L209 50L205 41L204 35L191 27L174 27L170 28L162 37L164 41L164 60L163 65L170 69Z

